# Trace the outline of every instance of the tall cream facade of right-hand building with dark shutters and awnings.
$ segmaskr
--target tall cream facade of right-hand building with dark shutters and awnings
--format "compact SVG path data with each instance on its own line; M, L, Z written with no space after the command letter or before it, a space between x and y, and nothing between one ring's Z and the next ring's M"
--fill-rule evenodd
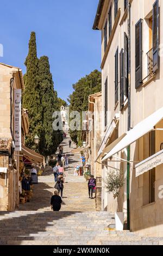
M102 210L124 212L132 231L162 236L162 54L160 0L100 0L93 29L102 34L102 177L122 171L114 199L102 185Z

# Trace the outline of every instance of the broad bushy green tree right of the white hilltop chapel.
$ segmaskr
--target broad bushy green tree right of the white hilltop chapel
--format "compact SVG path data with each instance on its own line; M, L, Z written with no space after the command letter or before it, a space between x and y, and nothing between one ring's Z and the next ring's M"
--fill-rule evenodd
M91 74L82 77L76 84L73 84L73 93L69 96L68 102L70 102L70 112L88 110L88 97L91 94L101 92L101 72L94 70ZM82 118L81 118L82 121ZM82 145L81 131L70 131L72 141L78 145Z

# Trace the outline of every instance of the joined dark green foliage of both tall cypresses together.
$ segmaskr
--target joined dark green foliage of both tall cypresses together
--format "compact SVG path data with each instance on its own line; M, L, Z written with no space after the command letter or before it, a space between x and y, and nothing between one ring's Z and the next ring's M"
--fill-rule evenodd
M25 64L27 73L24 75L23 107L28 109L30 123L26 145L48 156L55 153L62 141L61 132L53 131L52 128L53 112L59 111L60 105L57 92L54 91L48 57L37 58L35 32L30 35ZM35 135L40 138L39 145L34 143Z

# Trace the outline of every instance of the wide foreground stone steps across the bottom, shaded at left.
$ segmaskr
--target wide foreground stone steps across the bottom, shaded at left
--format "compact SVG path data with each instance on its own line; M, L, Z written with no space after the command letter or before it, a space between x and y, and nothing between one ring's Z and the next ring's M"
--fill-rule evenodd
M0 245L163 245L163 238L109 231L109 212L0 212Z

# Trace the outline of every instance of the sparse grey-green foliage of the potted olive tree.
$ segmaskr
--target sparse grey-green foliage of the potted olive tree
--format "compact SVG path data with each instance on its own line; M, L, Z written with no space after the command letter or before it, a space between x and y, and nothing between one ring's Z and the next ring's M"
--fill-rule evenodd
M124 177L122 171L115 172L110 170L108 176L104 180L105 188L109 193L113 193L114 198L120 194L120 188L124 185Z

